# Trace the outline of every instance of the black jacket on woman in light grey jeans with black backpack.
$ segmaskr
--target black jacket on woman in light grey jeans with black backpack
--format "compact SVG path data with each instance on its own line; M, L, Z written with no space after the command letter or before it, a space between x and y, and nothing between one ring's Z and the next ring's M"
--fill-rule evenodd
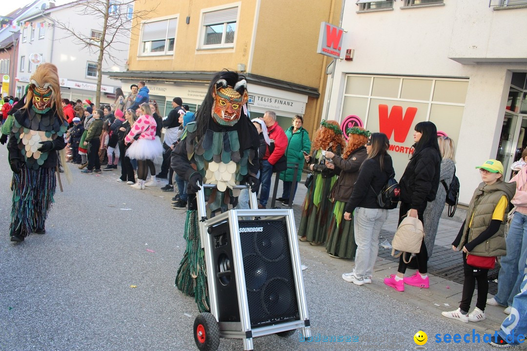
M384 155L383 170L375 158L368 158L360 166L360 172L353 188L353 194L346 204L345 211L353 213L356 207L379 208L377 194L383 189L391 175L395 174L392 157Z

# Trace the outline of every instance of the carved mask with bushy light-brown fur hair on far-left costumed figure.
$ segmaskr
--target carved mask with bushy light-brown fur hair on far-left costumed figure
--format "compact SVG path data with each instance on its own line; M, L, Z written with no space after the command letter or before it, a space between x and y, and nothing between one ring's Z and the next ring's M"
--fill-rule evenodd
M44 114L53 106L60 106L61 94L58 73L55 65L39 65L30 79L27 90L27 104L32 102L36 113Z

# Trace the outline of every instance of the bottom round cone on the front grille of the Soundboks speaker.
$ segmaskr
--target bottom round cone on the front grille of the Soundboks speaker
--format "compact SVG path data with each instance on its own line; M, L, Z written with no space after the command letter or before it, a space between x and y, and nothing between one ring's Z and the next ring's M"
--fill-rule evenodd
M270 316L279 316L291 307L293 296L289 281L277 277L269 279L262 288L262 303L265 312Z

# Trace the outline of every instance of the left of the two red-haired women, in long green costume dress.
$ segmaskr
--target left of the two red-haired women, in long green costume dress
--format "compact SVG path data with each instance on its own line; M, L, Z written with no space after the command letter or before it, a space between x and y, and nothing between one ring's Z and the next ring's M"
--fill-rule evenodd
M302 217L298 228L300 241L310 242L317 246L324 244L327 239L329 218L333 204L328 200L329 191L337 180L334 169L325 164L325 155L329 151L340 155L345 141L340 126L336 121L320 122L320 128L315 134L311 155L305 155L306 162L313 172L313 181L307 190Z

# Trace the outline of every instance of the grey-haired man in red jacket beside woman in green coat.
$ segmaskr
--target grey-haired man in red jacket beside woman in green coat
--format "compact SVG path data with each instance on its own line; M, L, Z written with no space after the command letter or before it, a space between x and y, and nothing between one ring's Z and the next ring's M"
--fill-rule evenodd
M261 163L261 192L258 208L265 208L267 205L272 173L285 171L285 167L282 168L282 166L285 166L285 159L282 156L284 156L287 148L287 136L284 129L276 122L276 113L267 111L264 114L264 122L267 127L270 145L267 146L267 151ZM278 166L278 162L280 162L280 169L276 169L275 167L273 170L273 166Z

